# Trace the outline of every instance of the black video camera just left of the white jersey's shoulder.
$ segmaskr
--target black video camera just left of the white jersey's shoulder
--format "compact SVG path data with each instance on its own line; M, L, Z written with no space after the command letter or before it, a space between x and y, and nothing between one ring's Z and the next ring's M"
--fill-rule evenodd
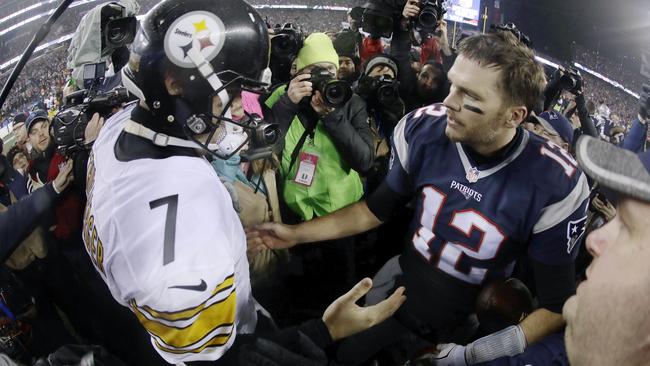
M93 114L108 118L115 108L133 99L123 86L109 91L98 90L104 80L104 70L104 63L84 65L86 89L66 96L61 111L52 119L54 142L66 156L88 148L84 144L84 132Z

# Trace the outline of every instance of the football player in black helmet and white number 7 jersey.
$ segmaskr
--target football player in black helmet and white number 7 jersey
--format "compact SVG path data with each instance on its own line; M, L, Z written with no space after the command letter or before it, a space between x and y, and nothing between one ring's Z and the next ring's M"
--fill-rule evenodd
M246 237L205 155L269 150L257 143L274 140L271 125L230 118L242 88L263 86L268 55L265 23L241 0L159 3L122 70L140 102L106 121L90 155L86 249L169 363L232 358L235 339L256 329ZM404 301L401 289L381 306L354 305L369 288L363 281L307 327L312 341L366 329Z

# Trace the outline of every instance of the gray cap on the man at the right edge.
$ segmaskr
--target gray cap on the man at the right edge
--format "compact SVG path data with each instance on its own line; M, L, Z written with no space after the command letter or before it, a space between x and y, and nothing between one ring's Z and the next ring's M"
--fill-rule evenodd
M608 142L581 136L576 154L584 172L600 185L650 202L650 151L634 154Z

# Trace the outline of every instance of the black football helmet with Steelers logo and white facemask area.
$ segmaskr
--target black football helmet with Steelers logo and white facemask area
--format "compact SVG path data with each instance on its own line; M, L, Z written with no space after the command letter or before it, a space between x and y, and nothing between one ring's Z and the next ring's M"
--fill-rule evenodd
M266 24L246 2L166 0L140 21L122 81L157 117L142 123L156 133L154 143L189 139L228 158L260 128L269 130L254 116L236 122L229 110L233 94L265 87L269 54ZM167 92L170 76L180 83L181 95ZM219 115L212 111L215 96L221 100ZM197 140L203 134L207 142Z

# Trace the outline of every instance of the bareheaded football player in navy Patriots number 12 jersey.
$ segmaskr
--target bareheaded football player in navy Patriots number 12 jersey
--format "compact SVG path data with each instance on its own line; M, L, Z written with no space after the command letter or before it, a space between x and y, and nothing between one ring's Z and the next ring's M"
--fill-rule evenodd
M408 332L448 340L473 311L481 285L510 276L523 256L532 263L539 309L467 349L465 360L520 353L564 325L587 180L566 151L520 126L545 85L533 52L507 32L467 38L458 51L449 96L397 125L390 172L367 200L300 225L264 224L247 233L250 250L354 235L416 198L410 242L366 297L375 303L404 285L408 300L393 318L346 340L341 361L361 362Z

